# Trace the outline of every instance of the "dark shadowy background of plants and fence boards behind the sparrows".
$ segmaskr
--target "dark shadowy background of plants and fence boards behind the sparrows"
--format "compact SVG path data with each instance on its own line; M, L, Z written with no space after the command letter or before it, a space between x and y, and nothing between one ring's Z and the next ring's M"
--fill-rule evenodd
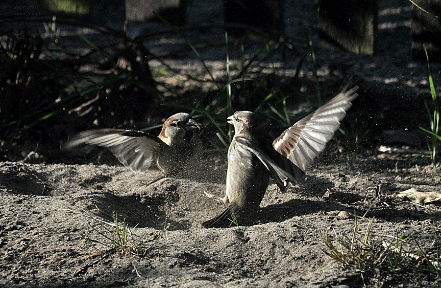
M437 1L425 12L409 0L156 2L0 4L1 161L97 161L60 144L95 128L157 134L178 111L222 159L234 111L263 115L275 138L353 83L360 96L328 155L438 145Z

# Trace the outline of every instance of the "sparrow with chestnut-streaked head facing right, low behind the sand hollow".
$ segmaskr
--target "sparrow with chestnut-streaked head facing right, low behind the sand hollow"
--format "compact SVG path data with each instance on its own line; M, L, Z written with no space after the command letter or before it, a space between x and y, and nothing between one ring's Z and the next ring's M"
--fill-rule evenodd
M189 114L177 113L164 122L158 136L136 130L95 129L74 135L63 149L82 144L105 147L132 171L146 172L156 167L166 175L178 174L199 149L197 135L201 129L202 125Z

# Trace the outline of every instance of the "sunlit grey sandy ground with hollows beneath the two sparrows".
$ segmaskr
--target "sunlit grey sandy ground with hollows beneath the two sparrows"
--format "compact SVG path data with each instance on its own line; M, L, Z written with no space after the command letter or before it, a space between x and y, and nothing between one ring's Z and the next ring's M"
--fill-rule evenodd
M344 269L324 254L324 239L332 228L350 235L354 215L368 211L360 230L374 219L375 243L404 235L424 249L439 247L440 206L394 195L410 187L439 189L438 170L390 155L319 165L287 193L270 185L256 225L203 229L200 223L223 208L203 191L221 195L224 184L107 165L3 162L0 285L427 287L433 279L412 273ZM327 189L334 193L330 199L322 198ZM143 255L112 248L118 236L113 212L130 227L127 251Z

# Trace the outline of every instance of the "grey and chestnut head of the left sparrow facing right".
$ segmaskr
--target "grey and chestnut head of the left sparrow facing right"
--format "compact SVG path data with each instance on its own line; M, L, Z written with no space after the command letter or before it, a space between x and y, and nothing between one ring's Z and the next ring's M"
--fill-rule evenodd
M187 113L176 113L164 122L159 138L167 145L180 145L190 141L200 132L202 125Z

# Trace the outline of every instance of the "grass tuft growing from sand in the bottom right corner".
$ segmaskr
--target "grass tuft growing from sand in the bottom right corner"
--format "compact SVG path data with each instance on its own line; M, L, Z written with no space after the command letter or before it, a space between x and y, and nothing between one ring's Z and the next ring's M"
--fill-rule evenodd
M333 228L331 236L327 230L324 244L328 250L324 253L342 266L361 272L379 272L386 277L412 272L415 277L441 280L439 247L435 251L425 250L414 235L411 236L413 242L407 241L410 237L404 235L382 235L392 240L377 241L372 229L374 218L364 231L360 228L365 216L355 217L352 234L339 234Z

